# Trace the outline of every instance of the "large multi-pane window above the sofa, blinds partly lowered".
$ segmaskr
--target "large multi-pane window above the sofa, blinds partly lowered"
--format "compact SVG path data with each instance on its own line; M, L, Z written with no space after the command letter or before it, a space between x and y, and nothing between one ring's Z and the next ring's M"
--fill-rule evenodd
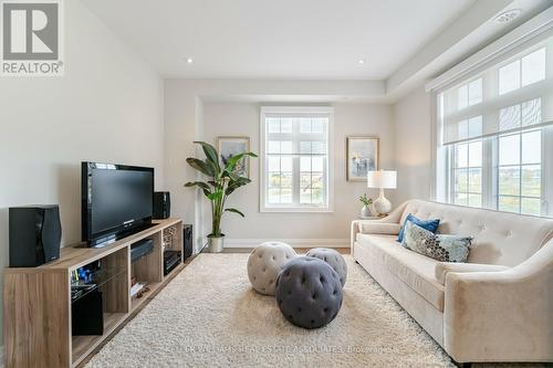
M553 38L436 92L436 199L553 217Z

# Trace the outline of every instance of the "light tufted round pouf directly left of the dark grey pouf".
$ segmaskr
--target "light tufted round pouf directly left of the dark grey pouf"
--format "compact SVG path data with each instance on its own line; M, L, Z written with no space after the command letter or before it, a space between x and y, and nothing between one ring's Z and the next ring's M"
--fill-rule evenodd
M274 295L280 270L295 256L295 251L286 243L265 242L258 245L248 259L248 277L253 288L261 294Z

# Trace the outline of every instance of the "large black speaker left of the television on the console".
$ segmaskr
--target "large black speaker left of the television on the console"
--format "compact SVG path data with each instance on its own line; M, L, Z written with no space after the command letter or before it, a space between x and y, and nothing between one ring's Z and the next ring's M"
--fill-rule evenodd
M10 208L10 267L35 267L60 257L60 208Z

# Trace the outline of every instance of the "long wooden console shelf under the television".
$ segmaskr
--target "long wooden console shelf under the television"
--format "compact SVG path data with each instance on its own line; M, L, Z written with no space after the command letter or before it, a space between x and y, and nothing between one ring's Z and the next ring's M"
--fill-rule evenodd
M176 236L164 240L170 229ZM164 248L179 250L182 222L156 221L155 225L100 249L82 244L63 248L60 259L39 267L6 269L4 343L8 367L76 367L144 302L159 292L182 264L164 276ZM154 250L131 261L132 244L152 239ZM104 273L94 280L103 295L103 335L72 336L71 274L101 260ZM149 288L142 297L131 296L131 280ZM81 295L83 297L85 294Z

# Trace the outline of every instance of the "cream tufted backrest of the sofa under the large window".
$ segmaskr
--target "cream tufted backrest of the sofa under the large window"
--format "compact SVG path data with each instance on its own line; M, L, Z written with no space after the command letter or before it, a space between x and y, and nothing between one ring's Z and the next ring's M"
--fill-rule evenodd
M437 233L472 236L471 263L518 265L553 238L553 220L492 210L408 201L399 223L409 213L419 219L440 219Z

